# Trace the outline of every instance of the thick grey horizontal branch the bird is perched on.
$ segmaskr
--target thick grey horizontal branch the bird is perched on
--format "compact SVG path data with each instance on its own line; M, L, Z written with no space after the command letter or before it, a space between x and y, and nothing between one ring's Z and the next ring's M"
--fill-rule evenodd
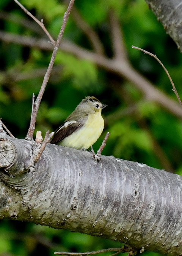
M35 142L2 137L1 219L182 255L181 176L112 156L96 162L90 152L51 144L33 165Z

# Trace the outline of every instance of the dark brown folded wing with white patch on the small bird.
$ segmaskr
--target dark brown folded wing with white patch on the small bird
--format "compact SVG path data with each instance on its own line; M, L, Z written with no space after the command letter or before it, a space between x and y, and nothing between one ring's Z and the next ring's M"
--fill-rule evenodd
M50 143L56 144L62 141L64 138L71 135L74 131L81 128L83 125L83 122L78 121L67 121L63 123L63 125L61 125L58 129L55 130L55 135Z

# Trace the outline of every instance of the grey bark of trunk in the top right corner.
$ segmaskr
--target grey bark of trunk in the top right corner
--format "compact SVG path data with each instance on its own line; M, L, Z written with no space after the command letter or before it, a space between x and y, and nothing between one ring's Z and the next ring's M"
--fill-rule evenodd
M180 0L146 0L146 2L182 52L182 2Z

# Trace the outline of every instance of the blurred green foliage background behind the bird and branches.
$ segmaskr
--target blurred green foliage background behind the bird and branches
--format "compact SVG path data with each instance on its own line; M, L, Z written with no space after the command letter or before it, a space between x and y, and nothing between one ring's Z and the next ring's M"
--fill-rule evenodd
M58 0L22 0L56 40L67 3ZM134 69L177 101L172 86L158 62L132 49L132 45L157 54L182 95L182 55L144 0L75 0L64 39L91 52L83 27L88 24L104 49L113 57L110 15L114 13L123 34L122 44ZM77 15L76 15L77 14ZM80 18L81 17L81 18ZM5 34L1 34L1 32ZM16 35L8 40L6 33ZM32 94L38 95L52 50L22 44L23 36L47 37L13 0L0 1L0 117L17 138L25 138L30 124ZM94 41L95 43L96 41ZM59 50L44 93L36 131L53 131L85 96L96 96L108 107L103 110L105 130L94 144L97 150L107 131L110 137L104 155L145 163L182 174L182 120L148 101L132 82L87 59ZM82 252L119 247L118 242L69 230L54 230L32 223L1 220L0 256L53 255L54 251ZM105 253L104 256L111 253ZM103 255L103 254L102 254ZM127 255L127 254L126 254ZM144 252L144 256L159 255Z

